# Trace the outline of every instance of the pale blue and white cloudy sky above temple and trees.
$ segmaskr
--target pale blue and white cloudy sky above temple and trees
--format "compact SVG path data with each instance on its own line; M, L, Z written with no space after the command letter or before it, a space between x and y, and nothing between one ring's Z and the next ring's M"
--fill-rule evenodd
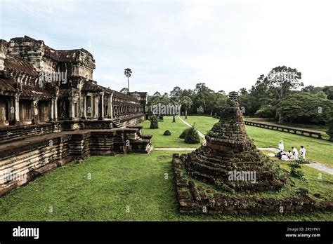
M280 65L333 86L333 1L6 1L0 39L30 36L93 54L101 86L169 93L251 88Z

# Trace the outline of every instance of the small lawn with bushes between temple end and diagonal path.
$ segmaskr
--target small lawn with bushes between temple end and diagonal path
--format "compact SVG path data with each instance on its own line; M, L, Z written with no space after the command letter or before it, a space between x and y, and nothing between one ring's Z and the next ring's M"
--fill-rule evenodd
M154 147L200 147L200 143L187 144L179 135L188 128L183 122L176 118L176 123L172 122L172 116L164 116L164 121L159 121L158 129L150 129L150 121L143 121L143 134L152 136L152 144ZM170 130L171 135L163 135L165 130ZM202 141L202 140L201 140Z

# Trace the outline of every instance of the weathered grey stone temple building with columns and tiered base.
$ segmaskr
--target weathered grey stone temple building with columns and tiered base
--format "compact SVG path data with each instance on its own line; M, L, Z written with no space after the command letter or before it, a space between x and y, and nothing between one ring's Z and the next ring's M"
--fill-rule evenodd
M150 151L151 136L136 126L147 93L99 86L95 68L82 48L0 40L0 195L77 158Z

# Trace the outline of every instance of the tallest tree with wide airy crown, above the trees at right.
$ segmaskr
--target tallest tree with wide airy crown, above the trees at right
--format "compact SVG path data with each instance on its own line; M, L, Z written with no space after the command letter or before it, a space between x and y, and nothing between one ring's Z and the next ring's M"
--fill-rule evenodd
M301 80L301 72L286 66L273 68L267 76L268 84L275 91L278 101L286 97L290 90L303 86L303 83L299 80ZM279 112L278 117L279 123L282 123L282 113Z

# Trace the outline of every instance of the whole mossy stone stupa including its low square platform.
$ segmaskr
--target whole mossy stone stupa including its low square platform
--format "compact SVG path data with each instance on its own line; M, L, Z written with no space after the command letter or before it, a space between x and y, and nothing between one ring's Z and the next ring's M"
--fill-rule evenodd
M314 202L304 194L296 200L260 197L282 189L289 173L256 149L237 97L236 92L229 94L220 120L205 136L205 145L173 156L180 212L251 214L278 212L281 206L294 211L299 201L301 208L312 208Z

